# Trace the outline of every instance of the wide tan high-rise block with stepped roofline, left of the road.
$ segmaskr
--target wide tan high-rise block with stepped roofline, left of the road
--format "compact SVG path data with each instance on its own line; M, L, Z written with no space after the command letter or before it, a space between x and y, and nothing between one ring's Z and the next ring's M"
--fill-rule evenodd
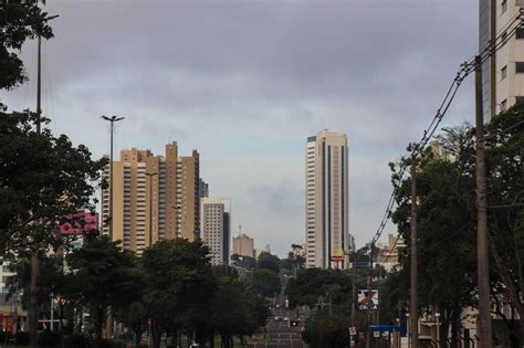
M200 233L199 168L198 151L178 156L176 141L166 145L165 156L122 150L120 160L113 162L112 239L138 254L158 240L195 240ZM109 190L104 190L102 200L103 221L108 221ZM109 233L107 223L102 231Z

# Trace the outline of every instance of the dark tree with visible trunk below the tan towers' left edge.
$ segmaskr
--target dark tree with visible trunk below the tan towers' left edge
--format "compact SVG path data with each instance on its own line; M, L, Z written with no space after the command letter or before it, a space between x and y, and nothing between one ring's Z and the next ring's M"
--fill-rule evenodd
M84 246L69 254L66 261L66 282L75 285L70 296L90 309L99 340L108 307L118 310L140 297L143 277L137 257L122 250L119 242L91 234L85 236Z

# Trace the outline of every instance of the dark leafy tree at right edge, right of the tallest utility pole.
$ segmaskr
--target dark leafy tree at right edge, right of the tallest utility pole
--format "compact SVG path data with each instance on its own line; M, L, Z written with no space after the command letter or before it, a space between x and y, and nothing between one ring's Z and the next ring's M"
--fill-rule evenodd
M488 230L495 312L512 333L514 345L524 341L515 316L506 317L499 298L524 317L524 104L494 117L486 131ZM504 284L501 286L501 284ZM520 337L518 337L520 336Z

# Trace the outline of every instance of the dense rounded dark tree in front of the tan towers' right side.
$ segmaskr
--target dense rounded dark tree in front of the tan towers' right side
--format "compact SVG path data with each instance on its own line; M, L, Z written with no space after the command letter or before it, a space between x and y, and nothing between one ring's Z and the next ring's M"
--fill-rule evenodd
M151 320L154 346L159 347L163 333L176 338L182 328L203 345L217 286L208 247L200 240L164 240L144 251L142 267L143 308Z

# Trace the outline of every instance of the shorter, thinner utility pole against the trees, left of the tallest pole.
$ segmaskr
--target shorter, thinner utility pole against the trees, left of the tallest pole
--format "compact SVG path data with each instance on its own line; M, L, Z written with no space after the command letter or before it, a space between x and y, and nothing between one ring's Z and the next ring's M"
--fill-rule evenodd
M417 149L411 157L411 286L409 298L409 319L411 320L410 340L411 348L419 346L419 330L418 330L418 267L417 267Z

